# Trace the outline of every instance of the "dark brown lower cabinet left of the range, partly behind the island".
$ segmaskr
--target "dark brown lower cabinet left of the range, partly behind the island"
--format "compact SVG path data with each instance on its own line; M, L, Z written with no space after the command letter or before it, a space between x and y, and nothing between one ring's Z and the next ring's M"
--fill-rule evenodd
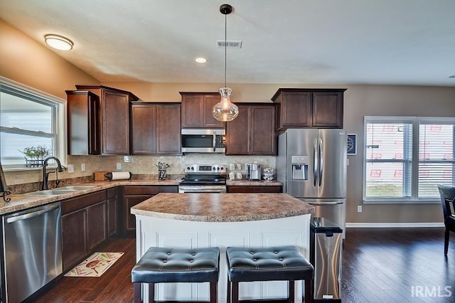
M178 186L124 186L123 193L122 235L134 237L136 236L136 217L131 214L130 208L158 193L178 193Z

